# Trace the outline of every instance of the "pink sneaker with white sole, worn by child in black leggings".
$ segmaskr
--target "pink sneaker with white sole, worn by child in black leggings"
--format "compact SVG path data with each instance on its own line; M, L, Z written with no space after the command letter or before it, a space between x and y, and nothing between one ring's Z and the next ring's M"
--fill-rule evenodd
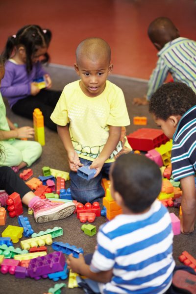
M38 196L30 200L28 207L32 208L35 221L39 223L65 219L75 210L73 202L51 202L49 199L41 199Z

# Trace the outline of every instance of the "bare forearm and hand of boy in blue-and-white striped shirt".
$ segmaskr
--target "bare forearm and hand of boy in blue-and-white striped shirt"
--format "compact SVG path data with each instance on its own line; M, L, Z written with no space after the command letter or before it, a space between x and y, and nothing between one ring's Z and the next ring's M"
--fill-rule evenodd
M67 259L68 269L74 272L84 275L87 278L99 283L108 283L112 278L112 269L107 271L93 272L90 270L90 266L85 263L82 254L79 254L79 258L74 258L72 254Z

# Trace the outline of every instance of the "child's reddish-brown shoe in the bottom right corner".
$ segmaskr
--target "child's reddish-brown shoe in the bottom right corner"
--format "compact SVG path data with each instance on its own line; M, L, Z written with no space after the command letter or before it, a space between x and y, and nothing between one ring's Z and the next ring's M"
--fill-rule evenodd
M173 275L172 285L179 290L179 293L196 293L196 274L186 270L176 270Z

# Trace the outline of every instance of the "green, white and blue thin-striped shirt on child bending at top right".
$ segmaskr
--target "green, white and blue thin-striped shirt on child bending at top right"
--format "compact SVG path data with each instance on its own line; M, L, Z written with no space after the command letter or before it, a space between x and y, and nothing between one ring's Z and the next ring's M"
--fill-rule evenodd
M174 39L157 55L159 59L148 82L147 100L164 83L168 73L174 82L185 83L196 92L196 41Z

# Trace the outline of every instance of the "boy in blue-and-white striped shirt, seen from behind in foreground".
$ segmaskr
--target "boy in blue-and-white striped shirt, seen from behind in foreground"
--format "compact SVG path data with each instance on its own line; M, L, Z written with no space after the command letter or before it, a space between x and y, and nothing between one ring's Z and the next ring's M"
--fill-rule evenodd
M110 181L123 214L99 228L90 266L80 255L69 256L68 267L99 282L100 293L165 293L175 263L171 218L156 200L162 184L159 167L144 155L123 154L110 169Z

